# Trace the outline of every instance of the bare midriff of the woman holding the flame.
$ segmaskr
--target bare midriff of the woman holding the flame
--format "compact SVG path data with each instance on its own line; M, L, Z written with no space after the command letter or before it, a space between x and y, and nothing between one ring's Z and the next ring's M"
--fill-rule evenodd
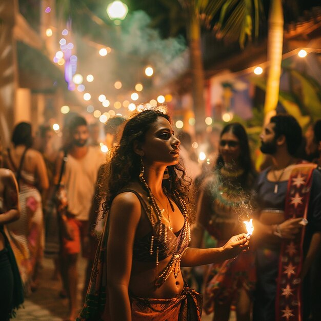
M179 272L176 278L174 273L171 273L160 287L155 287L157 275L166 268L171 257L168 256L160 261L157 268L156 262L146 263L133 260L129 291L142 298L167 299L177 297L184 287L182 272Z

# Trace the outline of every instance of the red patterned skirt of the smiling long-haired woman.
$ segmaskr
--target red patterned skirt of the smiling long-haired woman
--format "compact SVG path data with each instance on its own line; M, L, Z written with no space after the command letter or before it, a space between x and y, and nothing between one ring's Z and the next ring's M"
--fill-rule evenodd
M236 304L240 289L251 297L256 282L255 255L253 251L240 253L235 259L211 264L206 277L204 310L214 311L214 300L219 304Z

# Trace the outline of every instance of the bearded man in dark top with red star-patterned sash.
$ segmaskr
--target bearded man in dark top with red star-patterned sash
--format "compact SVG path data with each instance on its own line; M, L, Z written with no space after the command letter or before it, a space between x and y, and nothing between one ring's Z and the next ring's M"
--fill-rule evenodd
M321 244L321 173L295 158L302 130L290 115L265 126L261 150L272 166L259 174L257 293L253 320L307 320L309 269ZM304 309L304 311L303 311Z

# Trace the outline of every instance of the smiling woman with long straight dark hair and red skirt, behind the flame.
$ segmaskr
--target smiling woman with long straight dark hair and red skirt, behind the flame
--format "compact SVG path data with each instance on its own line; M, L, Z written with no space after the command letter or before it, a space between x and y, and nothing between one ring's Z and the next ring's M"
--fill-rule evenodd
M220 133L213 175L204 181L201 189L192 231L193 247L202 246L203 238L207 244L214 238L220 247L232 235L245 231L242 222L249 220L249 195L254 179L247 133L239 123L228 124ZM214 321L228 321L231 306L235 305L237 321L250 320L254 283L252 251L210 265L205 284L205 311L214 310Z

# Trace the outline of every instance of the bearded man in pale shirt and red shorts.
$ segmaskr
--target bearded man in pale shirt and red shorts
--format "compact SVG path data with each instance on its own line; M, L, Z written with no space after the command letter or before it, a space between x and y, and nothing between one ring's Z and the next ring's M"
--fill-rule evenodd
M62 164L65 162L62 182L66 189L68 208L62 219L69 233L63 235L62 238L61 271L69 299L67 319L74 320L78 308L77 256L81 252L81 245L87 235L89 211L97 173L99 166L104 163L105 156L100 150L87 145L89 133L85 118L81 116L71 118L68 124L68 134L69 144L65 154L61 152L58 156L56 174L59 175Z

